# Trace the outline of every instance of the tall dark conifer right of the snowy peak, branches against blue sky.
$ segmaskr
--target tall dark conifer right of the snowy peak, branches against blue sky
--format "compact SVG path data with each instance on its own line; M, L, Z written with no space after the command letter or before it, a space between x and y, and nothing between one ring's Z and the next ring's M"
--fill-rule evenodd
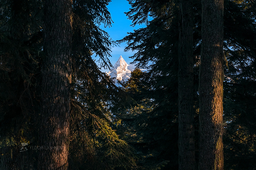
M178 169L178 7L173 1L130 3L129 18L134 24L147 23L147 27L129 33L123 41L128 42L126 50L138 50L132 56L137 66L148 69L142 79L147 88L138 96L154 106L150 112L142 112L143 123L135 125L143 136L141 144L135 145L148 155L142 165ZM154 19L148 21L148 15Z

